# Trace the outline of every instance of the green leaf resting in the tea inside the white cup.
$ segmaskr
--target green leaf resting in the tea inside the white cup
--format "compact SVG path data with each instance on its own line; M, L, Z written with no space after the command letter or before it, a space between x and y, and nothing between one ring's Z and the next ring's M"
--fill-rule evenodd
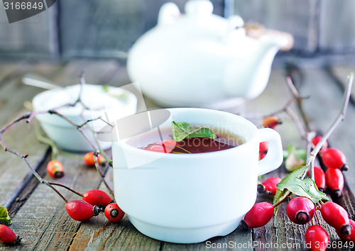
M184 140L185 138L216 138L209 128L195 128L186 122L172 122L173 138L176 142Z

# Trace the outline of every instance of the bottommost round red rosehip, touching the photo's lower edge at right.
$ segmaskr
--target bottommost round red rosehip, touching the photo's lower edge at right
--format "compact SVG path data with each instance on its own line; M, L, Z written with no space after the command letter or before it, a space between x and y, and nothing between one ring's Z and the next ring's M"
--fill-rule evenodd
M310 250L327 249L329 237L327 232L320 225L311 225L306 231L306 243Z

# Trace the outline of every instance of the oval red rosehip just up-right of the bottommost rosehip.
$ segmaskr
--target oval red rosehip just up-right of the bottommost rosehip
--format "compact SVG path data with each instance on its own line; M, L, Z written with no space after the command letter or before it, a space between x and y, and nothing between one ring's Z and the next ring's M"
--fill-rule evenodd
M349 235L351 233L351 225L349 223L348 213L342 206L332 201L327 201L320 208L322 217L333 228L338 229L340 233Z

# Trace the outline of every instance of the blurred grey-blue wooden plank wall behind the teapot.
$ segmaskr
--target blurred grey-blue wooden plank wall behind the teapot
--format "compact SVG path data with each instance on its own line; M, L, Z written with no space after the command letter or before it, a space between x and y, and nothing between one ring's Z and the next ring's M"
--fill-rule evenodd
M186 0L172 0L184 12ZM165 0L60 0L47 11L15 23L0 4L1 60L74 57L125 60L131 45L157 23ZM244 22L258 22L291 33L295 45L279 52L276 62L352 62L355 53L355 1L343 0L212 0L214 13L237 14ZM296 58L295 58L296 57Z

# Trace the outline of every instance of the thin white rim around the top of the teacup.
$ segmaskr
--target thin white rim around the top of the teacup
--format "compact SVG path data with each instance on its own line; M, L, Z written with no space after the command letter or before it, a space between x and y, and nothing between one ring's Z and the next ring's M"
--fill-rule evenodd
M186 154L184 155L185 158L187 157L192 157L192 158L196 158L198 156L206 156L206 155L221 155L224 152L231 152L231 151L235 151L236 149L240 149L240 148L244 148L247 147L247 145L249 145L249 143L251 143L251 141L253 141L256 137L256 133L258 128L256 127L256 125L254 125L253 123L251 123L251 121L249 121L248 119L239 116L237 114L234 113L229 113L226 111L219 111L219 110L213 110L213 109L208 109L208 108L163 108L166 109L168 111L173 111L173 112L178 112L178 111L186 111L186 110L190 110L190 111L202 111L202 112L211 112L211 113L224 113L226 116L233 116L233 117L238 117L241 121L244 121L244 123L247 123L250 125L251 128L253 128L253 131L255 132L253 134L253 137L250 140L247 140L246 142L244 142L241 145L238 145L237 147L232 147L226 150L219 150L219 151L215 151L215 152L199 152L199 153L194 153L194 154ZM241 137L243 137L243 135L241 135ZM128 143L124 142L125 140L119 140L116 142L112 142L112 144L114 145L121 145L121 147L124 147L125 149L129 150L129 151L133 151L133 153L137 153L139 155L151 155L151 156L160 156L160 157L170 157L170 158L180 158L179 154L169 154L167 155L165 152L153 152L153 151L147 151L147 150L142 150L139 149L138 147L134 147L133 145L129 145Z

